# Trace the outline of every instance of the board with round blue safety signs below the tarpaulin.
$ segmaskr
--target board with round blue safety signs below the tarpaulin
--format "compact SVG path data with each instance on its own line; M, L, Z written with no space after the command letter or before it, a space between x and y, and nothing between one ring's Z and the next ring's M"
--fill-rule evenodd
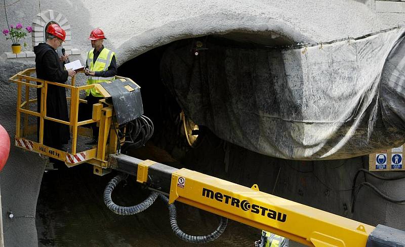
M369 171L405 171L403 146L371 153L369 156Z

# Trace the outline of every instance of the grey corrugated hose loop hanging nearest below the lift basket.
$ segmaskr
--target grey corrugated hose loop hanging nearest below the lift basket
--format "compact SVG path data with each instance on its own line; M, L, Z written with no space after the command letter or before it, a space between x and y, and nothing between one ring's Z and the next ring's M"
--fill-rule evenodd
M147 197L144 201L137 205L133 205L131 207L123 207L120 205L115 204L112 199L111 199L111 194L112 191L114 190L115 186L119 184L119 182L123 181L125 178L125 175L117 175L111 181L107 184L107 186L104 189L104 203L107 206L109 210L111 210L113 213L117 215L134 215L138 214L145 209L149 208L150 205L153 204L153 202L156 200L156 197L158 195L157 192L151 192L149 197Z

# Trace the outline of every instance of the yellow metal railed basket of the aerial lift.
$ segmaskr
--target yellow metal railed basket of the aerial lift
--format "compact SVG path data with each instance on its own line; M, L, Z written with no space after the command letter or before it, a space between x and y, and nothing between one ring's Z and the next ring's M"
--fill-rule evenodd
M75 76L72 77L70 85L55 83L54 81L47 81L31 76L34 73L35 68L29 68L13 75L9 79L13 83L17 84L16 146L64 161L68 167L76 166L77 164L83 162L91 163L95 166L95 173L102 175L102 169L96 169L96 167L107 168L107 156L110 153L114 153L117 148L116 133L115 131L110 131L111 128L114 128L112 124L115 125L115 123L112 123L112 106L107 105L105 100L101 100L100 103L93 105L93 115L89 116L90 119L78 121L79 103L86 103L86 100L79 98L80 92L93 88L94 85L75 86ZM116 76L116 78L129 79L120 76ZM69 121L47 116L47 104L45 102L47 102L49 85L55 85L57 87L65 88L66 90L70 90L70 97L67 97L68 102L70 102ZM37 98L32 99L32 97L30 97L30 89L41 89L42 97L40 102L38 102ZM35 103L40 104L41 110L39 112L30 109L30 105ZM23 122L21 122L22 115L26 116L24 117ZM30 125L28 116L38 118L39 138L37 141L27 139L28 135L32 135L37 131L36 124ZM59 122L70 127L70 132L72 135L70 152L44 145L44 131L46 131L44 130L45 120ZM78 140L77 137L78 135L83 135L85 133L84 129L80 128L80 126L93 122L97 122L97 124L100 126L99 143L97 147L76 152ZM115 128L117 128L117 126L115 126ZM107 140L109 141L107 142Z

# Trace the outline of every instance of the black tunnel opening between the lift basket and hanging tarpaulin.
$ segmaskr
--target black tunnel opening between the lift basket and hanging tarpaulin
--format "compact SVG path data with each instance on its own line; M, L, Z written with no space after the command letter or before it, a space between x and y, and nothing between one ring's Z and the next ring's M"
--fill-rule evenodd
M179 136L181 109L160 77L160 60L166 48L167 46L158 47L127 61L118 68L117 74L130 77L141 87L144 115L154 125L154 133L149 142L172 153L180 142L185 144L185 139L182 140ZM131 151L134 150L129 150Z

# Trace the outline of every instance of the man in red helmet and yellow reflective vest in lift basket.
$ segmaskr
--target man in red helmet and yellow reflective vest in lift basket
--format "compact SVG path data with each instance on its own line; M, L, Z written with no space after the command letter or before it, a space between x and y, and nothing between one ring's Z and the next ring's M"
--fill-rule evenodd
M87 53L85 69L85 74L89 76L87 85L114 80L117 73L115 53L104 48L103 41L106 39L104 32L100 28L93 29L89 39L91 40L93 49ZM102 97L103 96L99 94L95 88L86 90L86 112L88 115L91 116L93 104L98 103ZM87 142L86 145L94 145L98 140L99 128L97 128L96 123L92 123L91 127L93 129L93 139Z

